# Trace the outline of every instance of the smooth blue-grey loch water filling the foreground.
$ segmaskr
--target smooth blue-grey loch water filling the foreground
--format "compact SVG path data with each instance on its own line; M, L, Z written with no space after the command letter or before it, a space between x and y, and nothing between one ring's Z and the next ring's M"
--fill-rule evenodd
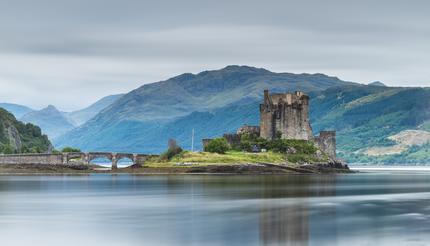
M430 245L430 172L0 176L1 245Z

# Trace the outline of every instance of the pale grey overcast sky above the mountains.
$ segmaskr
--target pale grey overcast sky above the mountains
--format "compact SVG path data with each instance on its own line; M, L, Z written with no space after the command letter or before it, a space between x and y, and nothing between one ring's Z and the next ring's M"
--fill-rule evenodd
M430 1L0 0L0 102L78 109L229 64L430 86Z

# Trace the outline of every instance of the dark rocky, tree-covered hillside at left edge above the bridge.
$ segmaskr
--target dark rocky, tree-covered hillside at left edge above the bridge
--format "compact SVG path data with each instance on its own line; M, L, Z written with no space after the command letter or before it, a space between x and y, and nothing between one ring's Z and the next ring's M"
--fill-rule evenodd
M39 127L24 124L0 108L0 153L46 152L51 146Z

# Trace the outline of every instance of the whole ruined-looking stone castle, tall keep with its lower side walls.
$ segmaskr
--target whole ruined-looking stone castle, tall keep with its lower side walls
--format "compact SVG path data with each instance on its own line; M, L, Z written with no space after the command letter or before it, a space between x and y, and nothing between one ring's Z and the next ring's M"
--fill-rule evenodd
M253 134L264 139L298 139L313 141L330 158L336 159L336 132L321 131L313 136L309 121L309 96L303 92L269 94L264 90L260 104L260 126L244 125L234 134L224 134L231 144L240 143L240 135ZM209 139L203 140L206 145Z

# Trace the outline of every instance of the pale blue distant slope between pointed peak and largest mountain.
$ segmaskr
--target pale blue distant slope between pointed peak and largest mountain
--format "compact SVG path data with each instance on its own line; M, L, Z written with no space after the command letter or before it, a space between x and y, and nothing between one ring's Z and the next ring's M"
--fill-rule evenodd
M87 122L89 119L93 118L96 114L102 111L104 108L108 107L124 94L111 95L107 97L103 97L87 108L67 113L67 116L75 122L76 125L80 126Z

